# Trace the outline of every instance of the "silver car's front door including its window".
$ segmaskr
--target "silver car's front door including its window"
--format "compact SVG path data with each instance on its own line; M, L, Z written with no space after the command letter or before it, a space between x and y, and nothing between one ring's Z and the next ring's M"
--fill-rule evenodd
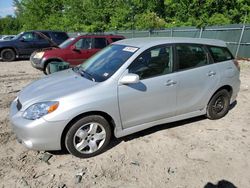
M175 115L176 76L171 46L159 46L143 52L128 67L140 82L118 86L123 128L150 123Z

